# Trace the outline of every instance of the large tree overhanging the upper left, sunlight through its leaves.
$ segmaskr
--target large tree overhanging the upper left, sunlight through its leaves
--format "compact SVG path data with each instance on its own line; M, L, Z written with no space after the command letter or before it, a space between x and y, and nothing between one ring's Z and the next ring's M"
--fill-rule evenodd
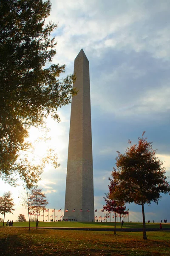
M76 94L75 76L59 81L65 65L51 64L57 24L45 23L50 11L50 0L0 1L0 177L12 184L12 174L32 179L34 166L20 161L32 147L28 129L49 114L59 121L57 109Z

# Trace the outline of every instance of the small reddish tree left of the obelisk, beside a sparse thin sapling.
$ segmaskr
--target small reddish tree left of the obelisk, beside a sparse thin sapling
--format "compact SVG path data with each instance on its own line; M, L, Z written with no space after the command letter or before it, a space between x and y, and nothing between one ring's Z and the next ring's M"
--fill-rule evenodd
M33 209L37 214L38 219L38 213L40 210L46 209L45 207L48 204L48 201L45 199L45 194L42 192L42 189L31 189L31 196L29 198L29 204L30 209Z

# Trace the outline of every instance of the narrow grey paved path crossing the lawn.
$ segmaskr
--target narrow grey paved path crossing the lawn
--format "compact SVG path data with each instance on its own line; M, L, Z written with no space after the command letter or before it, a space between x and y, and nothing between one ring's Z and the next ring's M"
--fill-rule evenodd
M26 227L28 228L28 227ZM36 228L36 227L30 227ZM38 227L41 229L54 229L54 230L82 230L82 231L114 231L114 228L96 228L96 227ZM161 230L170 230L170 228L146 228L146 231L161 231ZM142 232L143 228L116 228L116 231L123 232Z

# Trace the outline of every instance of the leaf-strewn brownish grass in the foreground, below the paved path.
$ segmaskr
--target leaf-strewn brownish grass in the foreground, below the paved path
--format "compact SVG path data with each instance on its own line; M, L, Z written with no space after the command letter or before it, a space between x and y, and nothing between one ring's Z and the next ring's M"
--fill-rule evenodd
M3 256L169 256L170 232L99 232L0 227Z

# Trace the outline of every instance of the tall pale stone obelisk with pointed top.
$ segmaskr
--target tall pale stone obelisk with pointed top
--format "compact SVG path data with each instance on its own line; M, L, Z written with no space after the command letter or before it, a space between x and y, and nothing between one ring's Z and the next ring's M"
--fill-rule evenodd
M74 61L78 93L72 98L64 218L94 221L89 61L83 49Z

